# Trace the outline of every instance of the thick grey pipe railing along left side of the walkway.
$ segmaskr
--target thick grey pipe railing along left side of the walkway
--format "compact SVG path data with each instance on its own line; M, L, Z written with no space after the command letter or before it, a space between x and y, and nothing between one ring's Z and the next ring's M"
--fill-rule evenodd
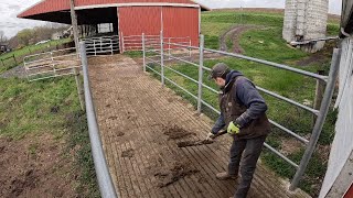
M84 42L79 42L79 54L82 58L83 73L84 73L84 90L85 90L85 103L87 113L87 124L92 147L92 155L95 164L96 176L100 195L103 198L116 198L116 189L114 187L107 161L104 154L101 140L99 135L99 128L97 124L97 118L95 107L92 98L89 78L88 78L88 63L86 55L86 46Z

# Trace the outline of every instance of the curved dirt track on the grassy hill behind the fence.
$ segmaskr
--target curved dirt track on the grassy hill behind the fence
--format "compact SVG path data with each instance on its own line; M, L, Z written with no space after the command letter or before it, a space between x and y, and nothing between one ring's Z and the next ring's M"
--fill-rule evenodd
M255 29L256 26L254 25L242 25L242 26L234 26L229 31L225 32L222 36L221 36L221 51L231 51L233 53L236 54L243 54L244 50L242 48L240 44L239 44L239 38L243 34L243 32L250 30L250 29ZM227 47L227 38L231 38L231 41L233 42L233 48L228 50Z

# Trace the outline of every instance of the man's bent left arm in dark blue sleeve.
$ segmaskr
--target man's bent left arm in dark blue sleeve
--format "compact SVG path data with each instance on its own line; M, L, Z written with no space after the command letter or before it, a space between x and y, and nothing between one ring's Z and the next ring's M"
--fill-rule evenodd
M267 111L265 99L248 79L239 79L236 85L235 96L247 108L235 121L240 127L248 124Z

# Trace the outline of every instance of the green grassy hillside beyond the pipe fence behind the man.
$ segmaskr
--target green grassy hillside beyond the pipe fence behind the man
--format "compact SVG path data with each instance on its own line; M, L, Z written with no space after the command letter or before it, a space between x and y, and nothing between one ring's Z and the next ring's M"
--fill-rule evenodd
M235 25L239 25L239 13L237 12L206 12L202 14L202 33L205 35L205 46L210 48L220 47L220 35ZM280 13L243 13L243 23L248 25L259 25L258 29L246 31L239 38L240 46L245 50L245 55L264 58L267 61L288 64L301 69L317 72L317 69L324 69L328 73L328 68L331 59L332 48L328 47L323 52L320 52L323 56L320 59L310 62L304 66L298 66L298 62L311 57L311 54L301 52L299 50L289 47L281 38L282 30L282 15ZM329 33L333 34L338 30L336 24L329 25ZM320 61L320 63L318 62ZM290 72L272 68L266 65L257 64L254 62L242 61L236 58L223 57L213 61L205 61L206 67L212 67L216 63L226 63L231 68L240 70L246 77L252 79L257 86L266 88L268 90L280 94L281 96L295 99L298 102L313 105L314 100L314 87L315 80L293 74ZM169 65L170 66L170 65ZM159 70L158 66L154 66ZM173 65L173 69L176 69L183 74L188 74L190 77L197 79L197 68L186 64ZM197 94L197 85L184 77L181 77L169 69L165 70L165 77L176 81L182 87L186 88L192 94ZM204 82L210 87L217 89L217 87L206 79L207 74L204 74ZM156 76L157 77L157 76ZM160 77L158 77L160 78ZM193 105L196 101L188 96L179 88L167 84L173 88L178 94L182 95ZM280 123L281 125L291 129L297 134L310 138L312 130L312 114L296 108L287 102L275 99L266 94L263 94L266 99L269 110L269 119ZM203 99L213 107L218 107L217 96L207 89L203 89ZM203 112L215 119L216 114L203 107ZM327 168L328 161L328 147L333 139L335 113L330 112L324 129L321 133L318 150L310 161L309 167L306 172L306 176L300 183L300 187L308 191L312 196L317 196L322 178ZM304 145L295 140L285 132L272 128L272 133L268 136L267 143L277 148L290 160L300 163L302 154L304 152ZM277 157L277 155L265 152L261 155L263 162L268 165L272 170L282 177L289 179L292 178L296 169L286 163L284 160Z

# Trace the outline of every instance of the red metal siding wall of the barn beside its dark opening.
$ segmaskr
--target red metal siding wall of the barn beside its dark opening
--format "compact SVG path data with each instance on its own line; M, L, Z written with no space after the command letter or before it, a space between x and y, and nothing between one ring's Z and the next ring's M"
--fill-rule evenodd
M160 35L164 37L191 37L199 45L199 9L174 7L122 7L118 8L119 32L129 35ZM163 21L163 24L162 24ZM173 40L171 42L184 42Z

